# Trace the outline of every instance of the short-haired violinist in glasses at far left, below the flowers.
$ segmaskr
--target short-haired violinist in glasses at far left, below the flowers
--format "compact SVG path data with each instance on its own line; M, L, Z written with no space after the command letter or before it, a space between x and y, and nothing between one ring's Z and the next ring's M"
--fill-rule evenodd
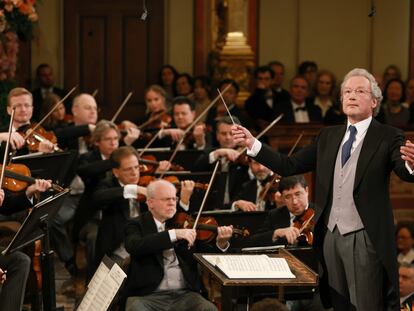
M13 150L18 150L17 155L29 153L24 135L30 130L31 118L33 115L33 96L28 90L22 87L12 89L7 96L7 113L11 115L12 109L16 112L13 120L13 130L10 138L10 145ZM7 140L7 130L0 130L0 141ZM3 144L4 145L4 144ZM54 144L49 140L39 143L39 152L51 153L54 151ZM4 148L4 146L2 146ZM1 152L0 152L1 153Z

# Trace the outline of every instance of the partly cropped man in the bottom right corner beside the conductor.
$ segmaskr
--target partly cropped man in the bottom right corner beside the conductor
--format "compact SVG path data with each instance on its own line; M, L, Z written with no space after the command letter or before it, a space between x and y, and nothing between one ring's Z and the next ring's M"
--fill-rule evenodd
M398 268L401 310L411 311L414 300L414 265L402 263Z

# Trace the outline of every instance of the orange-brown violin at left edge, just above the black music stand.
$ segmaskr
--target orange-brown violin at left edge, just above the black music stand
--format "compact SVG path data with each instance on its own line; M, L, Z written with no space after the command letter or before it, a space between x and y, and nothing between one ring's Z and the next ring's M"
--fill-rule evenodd
M3 167L0 164L0 169ZM4 170L4 180L2 188L18 192L27 188L30 184L34 184L36 179L31 177L30 169L24 164L9 164ZM63 188L57 184L52 184L52 189L62 191Z

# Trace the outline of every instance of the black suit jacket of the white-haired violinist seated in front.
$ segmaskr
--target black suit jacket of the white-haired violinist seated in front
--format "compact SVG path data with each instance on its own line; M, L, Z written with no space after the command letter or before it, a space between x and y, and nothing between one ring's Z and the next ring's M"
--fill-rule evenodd
M168 224L167 224L168 229ZM154 292L164 277L163 251L174 248L187 288L200 291L197 263L186 243L172 243L168 230L158 232L152 214L131 220L125 228L125 248L131 264L124 296L144 296ZM199 250L199 249L198 249Z

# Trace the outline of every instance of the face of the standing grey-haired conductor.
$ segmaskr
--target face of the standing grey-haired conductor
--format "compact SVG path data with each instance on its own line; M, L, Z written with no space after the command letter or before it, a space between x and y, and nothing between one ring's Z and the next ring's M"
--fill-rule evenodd
M354 76L345 82L342 88L342 106L352 124L372 116L377 100L372 96L371 84L367 78Z

